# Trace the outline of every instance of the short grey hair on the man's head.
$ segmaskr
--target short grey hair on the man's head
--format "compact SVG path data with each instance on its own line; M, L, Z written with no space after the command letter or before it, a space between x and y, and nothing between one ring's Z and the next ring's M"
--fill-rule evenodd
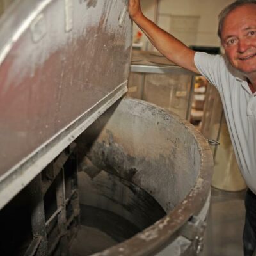
M219 26L218 26L218 36L221 38L221 31L223 28L223 23L227 17L227 15L232 11L235 10L239 6L243 6L245 4L256 4L256 0L237 0L232 4L229 4L225 7L220 15L219 15Z

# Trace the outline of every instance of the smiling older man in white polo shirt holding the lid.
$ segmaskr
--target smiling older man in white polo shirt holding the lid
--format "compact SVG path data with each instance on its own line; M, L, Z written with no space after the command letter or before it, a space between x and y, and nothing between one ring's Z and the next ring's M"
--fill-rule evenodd
M129 0L129 14L166 58L205 76L220 93L237 162L248 185L244 256L256 248L256 1L236 1L220 13L223 56L195 52L163 31Z

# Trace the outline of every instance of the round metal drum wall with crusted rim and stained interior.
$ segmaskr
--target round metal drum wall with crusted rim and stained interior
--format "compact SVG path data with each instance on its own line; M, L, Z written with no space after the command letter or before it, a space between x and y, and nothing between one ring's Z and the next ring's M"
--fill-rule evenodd
M95 255L164 255L167 246L170 255L195 255L209 209L213 163L207 141L193 125L153 104L125 97L76 143L79 163L88 157L98 170L140 186L167 212L131 239ZM130 211L136 214L139 205L132 204L128 193L118 190L115 182L113 186L107 182L106 188L102 182L93 187L93 180L107 179L104 172L92 177L82 174L86 179L80 180L81 204L113 211L136 223ZM96 195L102 195L102 200L94 200Z

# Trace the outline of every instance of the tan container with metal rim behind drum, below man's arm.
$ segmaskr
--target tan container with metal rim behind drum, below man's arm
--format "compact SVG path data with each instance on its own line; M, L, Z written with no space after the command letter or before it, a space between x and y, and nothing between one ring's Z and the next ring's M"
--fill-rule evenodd
M190 119L195 73L180 68L159 52L132 52L128 94Z

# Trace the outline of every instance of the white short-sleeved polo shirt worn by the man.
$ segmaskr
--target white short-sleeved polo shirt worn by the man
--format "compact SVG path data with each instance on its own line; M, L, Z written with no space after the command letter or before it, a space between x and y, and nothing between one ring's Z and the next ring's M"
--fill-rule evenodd
M256 93L225 56L196 52L195 65L220 93L237 163L256 194Z

